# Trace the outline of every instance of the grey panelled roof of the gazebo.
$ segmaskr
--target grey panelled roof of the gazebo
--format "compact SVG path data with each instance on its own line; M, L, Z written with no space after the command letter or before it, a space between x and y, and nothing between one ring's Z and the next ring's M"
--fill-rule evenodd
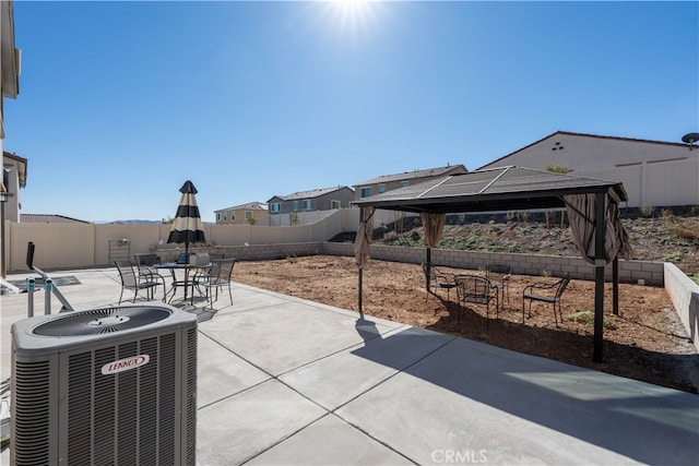
M618 181L556 174L523 167L500 167L451 175L354 201L406 212L498 212L561 207L566 194L609 193L627 201Z

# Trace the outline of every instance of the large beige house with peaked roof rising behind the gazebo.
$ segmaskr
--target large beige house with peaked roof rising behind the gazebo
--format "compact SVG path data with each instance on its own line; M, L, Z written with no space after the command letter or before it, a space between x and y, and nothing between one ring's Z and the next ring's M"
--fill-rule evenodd
M516 165L621 181L628 207L699 205L699 147L557 131L483 168Z

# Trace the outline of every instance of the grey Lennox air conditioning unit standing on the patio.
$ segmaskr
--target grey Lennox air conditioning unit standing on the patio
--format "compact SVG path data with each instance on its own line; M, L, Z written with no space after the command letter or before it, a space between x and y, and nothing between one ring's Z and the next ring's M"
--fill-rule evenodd
M197 316L125 306L12 325L11 462L194 465Z

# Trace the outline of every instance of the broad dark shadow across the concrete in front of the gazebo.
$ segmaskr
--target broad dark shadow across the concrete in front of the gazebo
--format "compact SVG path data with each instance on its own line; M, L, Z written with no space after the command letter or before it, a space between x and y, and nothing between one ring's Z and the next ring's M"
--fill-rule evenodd
M436 339L437 349L406 365L406 348ZM699 397L690 394L416 327L352 353L641 463L697 459Z

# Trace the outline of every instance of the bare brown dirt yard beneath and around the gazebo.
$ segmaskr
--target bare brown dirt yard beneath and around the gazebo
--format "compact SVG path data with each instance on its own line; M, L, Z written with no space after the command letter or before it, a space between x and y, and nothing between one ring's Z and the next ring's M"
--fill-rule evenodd
M449 268L445 268L449 272ZM460 272L464 271L451 271ZM475 271L465 271L472 272ZM236 264L235 280L342 309L357 311L358 272L353 258L308 256ZM522 323L522 289L556 278L514 276L510 299L495 319L486 307L467 304L460 322L455 294L425 291L422 267L370 260L364 271L364 313L500 346L656 385L699 393L699 355L688 342L663 288L619 285L619 315L605 292L604 361L592 362L594 283L572 280L562 299L564 323L556 326L550 304L534 303ZM573 320L573 318L577 318Z

